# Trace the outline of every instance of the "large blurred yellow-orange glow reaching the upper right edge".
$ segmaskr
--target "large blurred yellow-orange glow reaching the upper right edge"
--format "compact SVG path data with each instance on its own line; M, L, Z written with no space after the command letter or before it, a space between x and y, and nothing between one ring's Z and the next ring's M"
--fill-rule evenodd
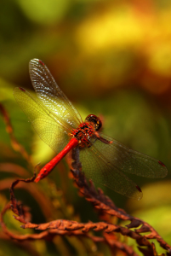
M141 51L154 73L171 73L171 9L159 13L138 13L133 7L105 9L88 17L76 28L75 41L82 55L99 55L106 50Z

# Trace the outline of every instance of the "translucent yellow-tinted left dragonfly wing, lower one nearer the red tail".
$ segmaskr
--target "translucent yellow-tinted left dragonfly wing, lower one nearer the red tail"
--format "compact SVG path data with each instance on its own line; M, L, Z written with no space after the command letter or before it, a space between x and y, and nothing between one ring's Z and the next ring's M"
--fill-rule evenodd
M43 104L26 90L14 88L14 97L44 143L59 153L68 143L67 132Z

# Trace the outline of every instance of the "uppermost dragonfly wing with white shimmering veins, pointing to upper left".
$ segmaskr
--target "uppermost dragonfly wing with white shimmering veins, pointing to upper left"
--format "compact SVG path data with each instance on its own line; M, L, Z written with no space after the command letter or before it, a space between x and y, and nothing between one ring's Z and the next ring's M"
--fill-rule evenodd
M43 104L55 115L66 120L72 128L82 123L82 118L73 107L66 95L60 90L56 84L48 67L38 59L33 59L29 63L29 71L31 82L37 92L37 96Z

